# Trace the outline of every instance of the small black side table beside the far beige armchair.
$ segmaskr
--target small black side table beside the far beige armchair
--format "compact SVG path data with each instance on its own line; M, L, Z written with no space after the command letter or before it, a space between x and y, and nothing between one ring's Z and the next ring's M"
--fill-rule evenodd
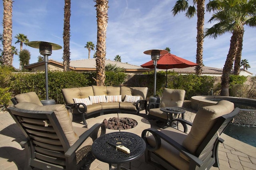
M184 109L180 107L161 107L161 111L167 113L167 119L168 119L168 125L171 125L171 121L173 120L173 114L179 114L178 117L181 117L184 119L184 113L186 112Z

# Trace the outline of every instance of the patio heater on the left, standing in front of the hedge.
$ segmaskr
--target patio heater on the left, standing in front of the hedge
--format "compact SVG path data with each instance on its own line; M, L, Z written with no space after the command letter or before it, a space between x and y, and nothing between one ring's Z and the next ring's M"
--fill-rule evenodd
M40 54L44 56L46 100L41 100L41 103L43 105L55 104L55 100L49 100L48 94L48 56L52 55L52 50L59 50L62 49L62 47L45 41L30 41L26 43L26 45L39 49Z

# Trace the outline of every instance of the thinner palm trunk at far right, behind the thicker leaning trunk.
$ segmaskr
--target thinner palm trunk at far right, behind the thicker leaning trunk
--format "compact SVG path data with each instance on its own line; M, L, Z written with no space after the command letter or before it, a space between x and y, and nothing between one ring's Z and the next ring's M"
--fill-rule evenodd
M238 35L238 47L236 50L236 56L235 56L235 63L234 63L234 74L239 75L240 74L240 63L241 63L241 57L242 57L242 49L243 49L243 38L244 38L244 29L239 31Z

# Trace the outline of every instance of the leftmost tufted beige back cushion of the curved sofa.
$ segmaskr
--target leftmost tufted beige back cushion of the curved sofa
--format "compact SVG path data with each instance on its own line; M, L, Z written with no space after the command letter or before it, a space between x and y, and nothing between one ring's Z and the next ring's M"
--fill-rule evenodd
M88 98L94 96L92 86L78 87L78 88L63 88L61 90L66 104L74 103L74 98Z

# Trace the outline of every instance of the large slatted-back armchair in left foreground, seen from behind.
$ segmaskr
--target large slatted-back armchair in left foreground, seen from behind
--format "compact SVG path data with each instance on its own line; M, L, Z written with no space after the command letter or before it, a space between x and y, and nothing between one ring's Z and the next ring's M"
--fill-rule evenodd
M73 127L72 113L62 104L20 102L8 111L26 137L20 143L26 150L24 169L88 169L95 159L92 143L106 133L102 123L90 129Z

